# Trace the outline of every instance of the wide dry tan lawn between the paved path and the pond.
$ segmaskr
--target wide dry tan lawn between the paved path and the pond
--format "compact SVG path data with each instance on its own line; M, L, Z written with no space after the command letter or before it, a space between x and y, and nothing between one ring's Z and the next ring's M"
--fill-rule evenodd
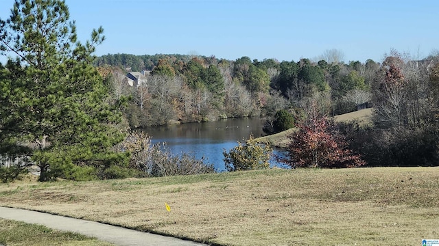
M0 205L221 245L420 245L439 238L439 167L15 182Z

